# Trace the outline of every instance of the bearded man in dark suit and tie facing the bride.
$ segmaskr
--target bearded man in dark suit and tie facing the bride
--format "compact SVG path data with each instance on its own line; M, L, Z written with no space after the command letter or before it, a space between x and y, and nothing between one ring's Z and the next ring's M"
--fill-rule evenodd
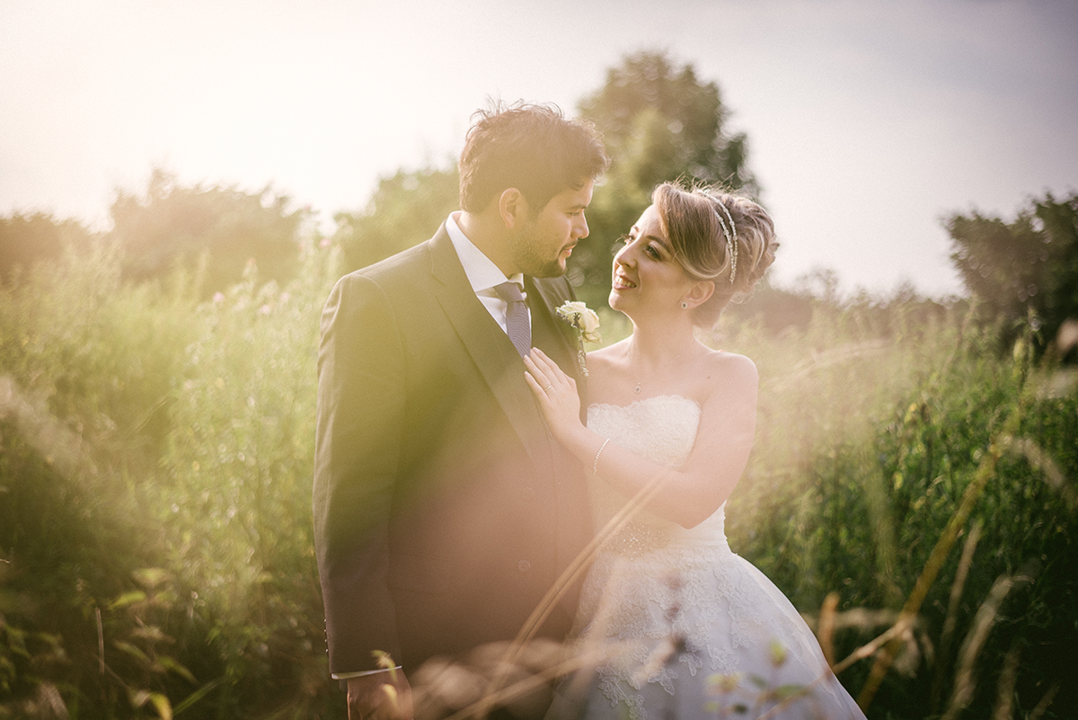
M572 300L566 259L609 161L556 108L478 115L461 210L341 278L322 313L315 543L353 718L387 710L385 683L410 703L404 674L429 657L512 639L588 540L581 469L522 355L539 347L582 384L577 331L554 309ZM542 634L561 639L571 617L556 607Z

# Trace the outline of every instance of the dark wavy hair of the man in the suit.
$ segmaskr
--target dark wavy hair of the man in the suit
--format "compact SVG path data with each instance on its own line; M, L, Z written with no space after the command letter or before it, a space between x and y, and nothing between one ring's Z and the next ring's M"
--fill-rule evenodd
M472 119L459 165L460 207L468 212L482 212L516 188L535 217L554 195L579 190L610 165L595 127L567 120L555 105L499 102Z

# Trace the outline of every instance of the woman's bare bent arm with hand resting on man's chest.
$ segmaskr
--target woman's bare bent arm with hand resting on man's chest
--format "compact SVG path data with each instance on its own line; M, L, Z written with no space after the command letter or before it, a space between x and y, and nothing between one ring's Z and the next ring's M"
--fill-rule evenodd
M663 487L648 503L649 512L693 527L718 510L737 485L756 430L759 375L748 358L723 354L708 362L710 391L701 409L696 441L676 470L584 427L576 383L541 351L525 358L525 378L551 431L585 467L626 497L661 477Z

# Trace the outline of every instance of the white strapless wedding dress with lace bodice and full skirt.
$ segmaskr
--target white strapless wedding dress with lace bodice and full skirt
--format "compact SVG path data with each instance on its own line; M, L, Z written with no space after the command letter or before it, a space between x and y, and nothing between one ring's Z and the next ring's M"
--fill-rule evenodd
M592 405L588 426L678 467L696 441L700 412L692 400L662 396ZM602 479L591 493L599 529L626 498ZM639 512L603 545L576 632L581 652L600 648L604 660L563 681L548 718L865 717L786 596L731 552L723 510L691 529ZM804 692L776 711L766 692L784 687Z

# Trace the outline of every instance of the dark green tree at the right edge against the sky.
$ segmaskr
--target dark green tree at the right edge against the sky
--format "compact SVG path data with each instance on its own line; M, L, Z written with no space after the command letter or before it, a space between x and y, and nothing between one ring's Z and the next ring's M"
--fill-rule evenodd
M993 320L1011 341L1032 318L1040 348L1067 318L1078 318L1078 194L1031 200L1013 222L955 213L946 221L951 260Z

